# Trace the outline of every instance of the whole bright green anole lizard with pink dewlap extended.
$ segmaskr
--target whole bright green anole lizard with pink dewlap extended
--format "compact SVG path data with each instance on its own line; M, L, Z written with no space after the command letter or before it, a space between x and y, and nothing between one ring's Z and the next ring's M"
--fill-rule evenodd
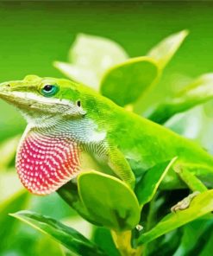
M2 83L0 97L27 119L16 170L36 195L59 189L84 170L110 173L134 188L135 178L172 157L178 159L167 175L166 189L179 188L182 179L192 190L202 190L196 176L212 187L213 157L205 150L86 86L28 75Z

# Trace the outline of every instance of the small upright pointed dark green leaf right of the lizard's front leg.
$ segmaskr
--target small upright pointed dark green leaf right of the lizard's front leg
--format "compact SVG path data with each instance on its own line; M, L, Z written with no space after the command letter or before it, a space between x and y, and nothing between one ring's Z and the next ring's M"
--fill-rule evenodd
M154 165L153 168L147 170L141 181L138 182L135 194L141 206L153 199L153 195L156 193L160 182L166 176L167 171L170 170L176 159L177 157L174 157L172 161Z

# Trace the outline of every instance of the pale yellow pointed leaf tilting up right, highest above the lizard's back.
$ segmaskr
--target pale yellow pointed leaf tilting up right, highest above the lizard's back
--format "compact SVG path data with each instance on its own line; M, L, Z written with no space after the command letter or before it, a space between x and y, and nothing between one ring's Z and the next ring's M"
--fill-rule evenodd
M172 56L177 52L185 37L188 35L187 30L182 30L179 33L169 35L154 48L152 48L147 56L157 61L162 69L172 59Z

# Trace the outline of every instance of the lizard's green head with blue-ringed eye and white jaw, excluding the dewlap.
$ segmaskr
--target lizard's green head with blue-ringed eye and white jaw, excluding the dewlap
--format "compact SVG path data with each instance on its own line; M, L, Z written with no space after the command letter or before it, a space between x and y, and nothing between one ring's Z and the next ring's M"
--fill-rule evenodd
M0 85L0 98L16 106L35 126L51 125L59 118L85 115L80 85L71 80L28 75Z

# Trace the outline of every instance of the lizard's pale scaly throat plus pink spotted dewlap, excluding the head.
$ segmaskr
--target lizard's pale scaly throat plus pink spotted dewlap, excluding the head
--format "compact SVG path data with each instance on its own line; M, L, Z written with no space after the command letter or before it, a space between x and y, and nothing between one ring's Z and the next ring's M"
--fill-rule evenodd
M46 128L28 125L16 155L22 184L31 193L47 195L72 180L81 170L82 146L103 139L94 129L88 120L78 119Z

